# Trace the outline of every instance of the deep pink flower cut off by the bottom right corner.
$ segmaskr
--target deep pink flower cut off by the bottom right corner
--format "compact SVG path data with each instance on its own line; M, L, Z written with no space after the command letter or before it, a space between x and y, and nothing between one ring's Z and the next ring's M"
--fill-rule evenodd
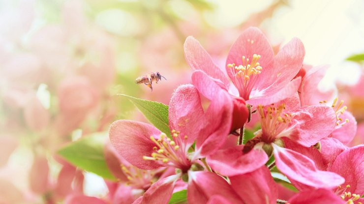
M315 161L317 168L334 172L343 178L345 182L337 185L332 192L342 200L350 203L358 201L364 193L364 145L347 148L337 139L328 137L321 140L321 153L316 148L306 148L294 143L286 143L289 149L299 151ZM313 187L301 183L292 182L299 190L312 190Z

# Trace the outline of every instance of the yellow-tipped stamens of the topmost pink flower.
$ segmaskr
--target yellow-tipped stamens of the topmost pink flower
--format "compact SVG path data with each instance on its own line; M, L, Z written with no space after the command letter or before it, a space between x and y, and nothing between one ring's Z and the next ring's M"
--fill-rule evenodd
M253 54L253 59L249 63L249 58L242 57L242 64L235 66L235 64L228 64L231 74L233 75L233 83L239 90L239 95L244 100L249 100L250 92L253 90L255 81L260 73L262 67L259 65L260 55Z

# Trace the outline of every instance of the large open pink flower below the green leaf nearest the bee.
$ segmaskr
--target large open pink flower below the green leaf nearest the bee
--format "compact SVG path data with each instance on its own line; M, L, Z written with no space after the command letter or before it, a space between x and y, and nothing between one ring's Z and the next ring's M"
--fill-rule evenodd
M189 180L195 178L192 172L203 169L198 158L215 152L227 139L231 124L226 121L231 121L233 108L227 103L230 96L223 91L216 92L214 96L205 95L212 100L204 113L196 88L180 86L169 104L172 138L145 123L119 120L111 125L111 144L132 165L141 169L163 166L179 169L178 174L154 183L144 194L142 202L167 203L176 181L181 177L186 181L186 176ZM194 141L194 152L188 153Z

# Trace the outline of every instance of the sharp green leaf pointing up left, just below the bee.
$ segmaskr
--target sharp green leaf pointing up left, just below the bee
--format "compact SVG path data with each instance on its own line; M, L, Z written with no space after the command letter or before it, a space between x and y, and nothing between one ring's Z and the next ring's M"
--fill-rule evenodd
M171 136L171 131L168 126L168 105L160 102L153 102L135 97L119 94L120 96L128 98L137 108L144 114L144 116L160 131Z

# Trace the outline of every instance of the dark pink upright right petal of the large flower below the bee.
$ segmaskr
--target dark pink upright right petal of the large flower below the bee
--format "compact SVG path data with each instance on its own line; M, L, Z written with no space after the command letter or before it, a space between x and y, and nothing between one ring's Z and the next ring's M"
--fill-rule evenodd
M233 104L225 91L216 93L205 113L204 128L196 140L196 152L193 159L207 156L220 148L230 133Z

